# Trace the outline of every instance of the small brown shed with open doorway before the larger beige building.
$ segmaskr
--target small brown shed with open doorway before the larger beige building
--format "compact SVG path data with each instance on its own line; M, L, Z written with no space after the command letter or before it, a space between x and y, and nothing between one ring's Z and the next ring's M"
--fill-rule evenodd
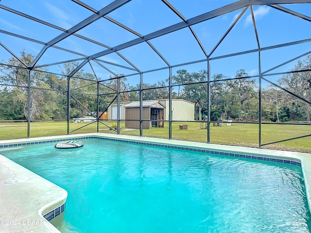
M125 108L125 128L139 129L139 113L140 102L135 101L124 105ZM142 122L143 129L150 129L151 127L164 127L164 109L165 105L158 100L146 100L142 102Z

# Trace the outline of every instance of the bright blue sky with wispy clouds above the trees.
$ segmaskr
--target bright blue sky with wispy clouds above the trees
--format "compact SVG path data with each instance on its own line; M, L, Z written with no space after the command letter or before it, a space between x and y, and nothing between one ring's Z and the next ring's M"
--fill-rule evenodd
M112 2L112 0L82 1L96 10L100 10ZM233 3L235 0L169 0L169 2L186 19L189 19ZM66 30L93 14L93 12L69 0L1 0L0 4L32 17L50 22ZM311 3L281 6L311 17ZM311 22L307 20L294 17L269 6L254 6L253 10L259 33L259 42L262 48L311 38ZM237 10L192 26L207 53L214 48L241 11L242 10ZM212 53L211 58L257 49L257 40L250 13L250 9L247 9L220 46ZM119 21L121 24L141 35L146 35L181 22L181 19L161 0L132 0L116 11L109 13L107 16ZM62 33L60 30L34 22L3 9L0 9L0 30L30 37L44 43L49 42ZM77 33L90 39L97 40L109 47L114 47L126 41L138 38L137 35L122 29L105 18L98 19ZM43 48L41 44L16 38L5 33L0 33L0 42L17 55L19 55L22 50L25 50L26 53L37 55ZM171 65L178 65L206 58L189 28L157 37L150 40L150 42ZM67 48L87 56L106 50L103 46L93 44L74 35L60 41L55 46ZM311 43L309 42L262 51L262 70L268 70L310 50ZM141 71L167 66L147 43L141 43L120 50L119 52ZM0 60L6 62L10 57L12 57L11 54L0 47ZM245 69L249 75L258 75L258 57L258 52L255 52L212 60L211 75L222 73L226 76L233 77L239 69ZM51 64L76 58L82 58L82 56L49 48L39 60L38 65ZM100 59L131 67L116 53L108 54ZM288 71L295 63L296 61L271 72ZM92 63L92 65L100 79L104 80L109 78L109 76L113 76L113 74L109 73L100 65L96 63ZM133 70L104 63L103 65L116 74L128 75L134 72ZM195 72L201 69L207 69L207 63L174 67L173 74L176 74L178 69L187 69L189 72ZM49 71L51 72L60 73L59 70L59 65L49 67ZM84 70L90 73L92 72L89 65L84 67ZM168 70L166 69L155 73L148 73L144 77L146 82L155 83L157 80L167 78L168 74ZM128 80L132 82L131 84L136 84L139 79L137 76L131 76Z

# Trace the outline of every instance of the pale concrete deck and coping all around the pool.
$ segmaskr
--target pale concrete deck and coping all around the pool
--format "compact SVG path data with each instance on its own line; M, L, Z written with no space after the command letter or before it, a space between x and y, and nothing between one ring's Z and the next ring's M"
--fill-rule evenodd
M59 233L43 216L63 205L67 199L66 190L45 180L1 155L2 150L15 150L18 144L47 142L77 137L103 137L148 144L161 144L201 150L221 151L224 156L233 153L246 154L256 158L275 158L301 164L307 200L311 206L311 154L294 151L256 149L240 146L226 146L200 142L148 138L109 133L84 133L53 137L37 137L14 140L0 140L0 232L4 233ZM13 146L14 145L14 146ZM16 145L16 146L15 146ZM242 156L241 156L242 157ZM271 162L276 163L277 162ZM284 162L285 163L285 162ZM10 183L12 182L12 183Z

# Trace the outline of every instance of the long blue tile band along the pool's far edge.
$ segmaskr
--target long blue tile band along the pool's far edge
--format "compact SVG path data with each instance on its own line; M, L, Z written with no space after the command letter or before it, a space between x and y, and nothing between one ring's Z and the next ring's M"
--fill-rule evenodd
M8 148L8 147L18 147L18 146L26 146L26 145L34 145L34 144L44 144L44 143L53 143L53 142L55 143L55 142L83 140L83 139L102 139L102 140L109 140L109 141L141 144L141 145L146 145L146 146L172 148L172 149L177 149L177 150L197 151L197 152L208 153L208 154L217 154L217 155L240 157L240 158L246 158L246 159L252 159L252 160L291 164L291 165L296 165L296 166L301 167L300 162L288 160L288 159L276 159L276 158L269 158L269 157L263 157L263 156L254 156L254 155L239 154L239 153L229 153L229 152L217 151L217 150L204 150L204 149L196 149L196 148L191 148L191 147L181 147L181 146L174 146L174 145L157 144L157 143L150 143L150 142L140 142L140 141L134 141L134 140L124 140L124 139L107 138L107 137L99 137L99 136L73 137L73 138L53 139L53 140L37 141L37 142L5 144L5 145L0 145L0 149L1 148Z

